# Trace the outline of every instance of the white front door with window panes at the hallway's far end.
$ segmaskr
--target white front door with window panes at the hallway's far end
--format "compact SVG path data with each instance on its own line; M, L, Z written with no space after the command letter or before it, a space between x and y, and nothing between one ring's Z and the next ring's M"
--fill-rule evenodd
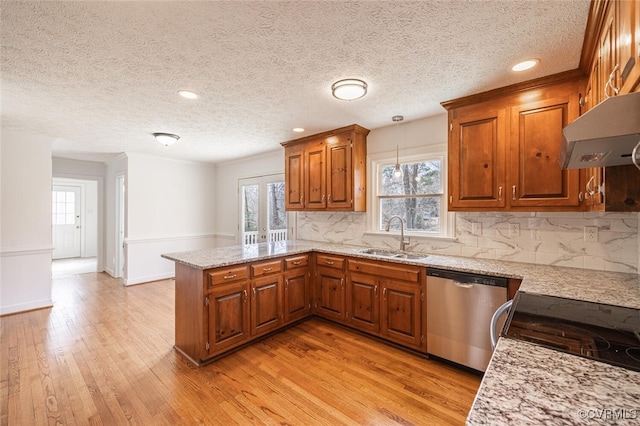
M80 257L82 189L79 186L54 186L51 195L52 257Z

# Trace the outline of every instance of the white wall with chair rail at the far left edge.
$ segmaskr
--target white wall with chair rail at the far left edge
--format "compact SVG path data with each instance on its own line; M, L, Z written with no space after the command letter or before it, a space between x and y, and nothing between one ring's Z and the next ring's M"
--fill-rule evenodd
M52 305L51 140L2 131L0 315Z

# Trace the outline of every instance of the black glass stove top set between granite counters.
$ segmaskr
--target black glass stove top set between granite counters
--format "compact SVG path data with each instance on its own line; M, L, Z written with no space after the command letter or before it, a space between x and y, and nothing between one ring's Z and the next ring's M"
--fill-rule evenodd
M518 292L501 335L640 371L640 309Z

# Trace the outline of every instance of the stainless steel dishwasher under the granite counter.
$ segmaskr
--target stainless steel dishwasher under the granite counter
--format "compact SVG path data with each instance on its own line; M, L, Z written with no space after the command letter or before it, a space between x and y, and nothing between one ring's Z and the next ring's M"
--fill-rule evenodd
M427 352L485 371L491 317L506 301L506 278L428 268Z

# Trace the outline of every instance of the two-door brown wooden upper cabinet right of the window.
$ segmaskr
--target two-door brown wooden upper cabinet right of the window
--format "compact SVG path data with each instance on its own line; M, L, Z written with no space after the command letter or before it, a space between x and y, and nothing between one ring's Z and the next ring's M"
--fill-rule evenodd
M469 96L449 110L449 210L580 208L580 172L558 163L562 128L580 112L577 73Z

